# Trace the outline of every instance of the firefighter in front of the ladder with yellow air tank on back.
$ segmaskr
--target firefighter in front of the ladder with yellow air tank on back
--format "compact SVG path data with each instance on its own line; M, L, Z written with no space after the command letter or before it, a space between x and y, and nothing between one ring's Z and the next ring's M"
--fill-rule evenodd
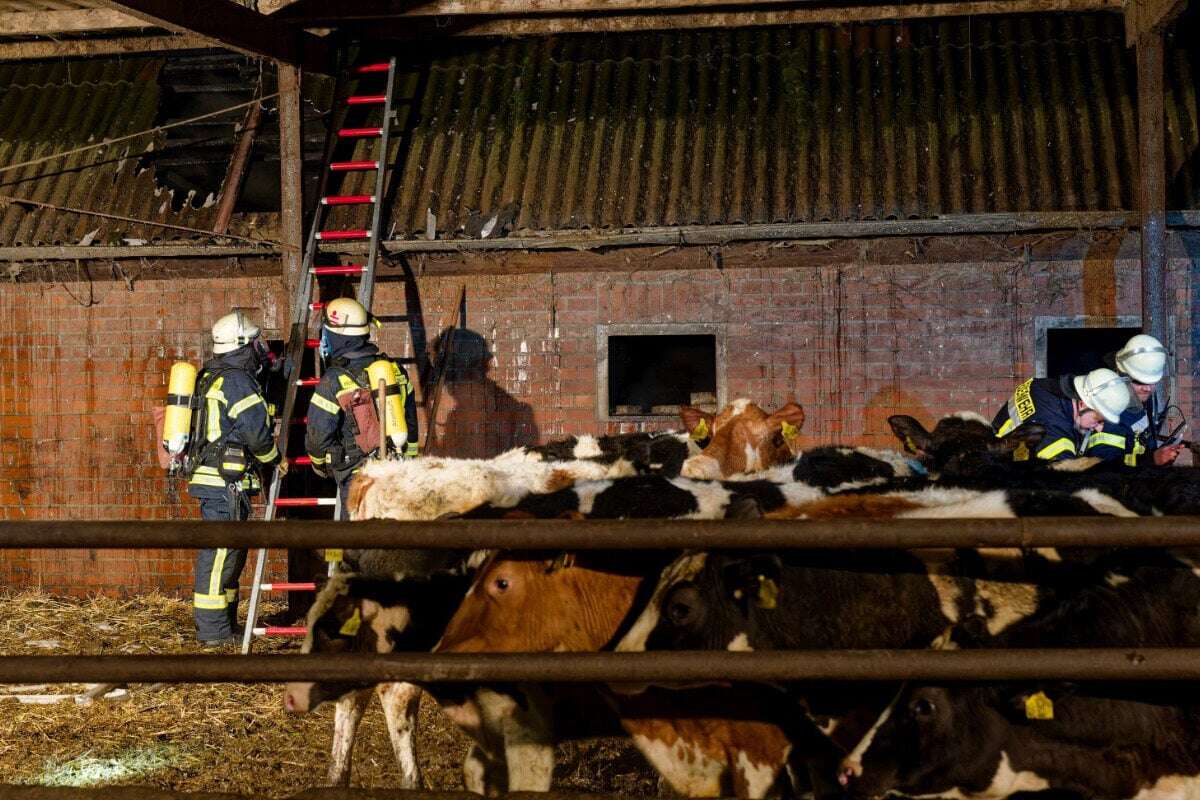
M372 416L385 428L389 453L418 455L416 402L408 373L367 341L371 321L356 300L340 297L325 306L320 330L325 373L308 404L305 450L318 475L337 481L343 519L350 479L368 457L388 455L379 453L378 428L367 431ZM372 385L380 368L388 383L385 420L378 420Z

